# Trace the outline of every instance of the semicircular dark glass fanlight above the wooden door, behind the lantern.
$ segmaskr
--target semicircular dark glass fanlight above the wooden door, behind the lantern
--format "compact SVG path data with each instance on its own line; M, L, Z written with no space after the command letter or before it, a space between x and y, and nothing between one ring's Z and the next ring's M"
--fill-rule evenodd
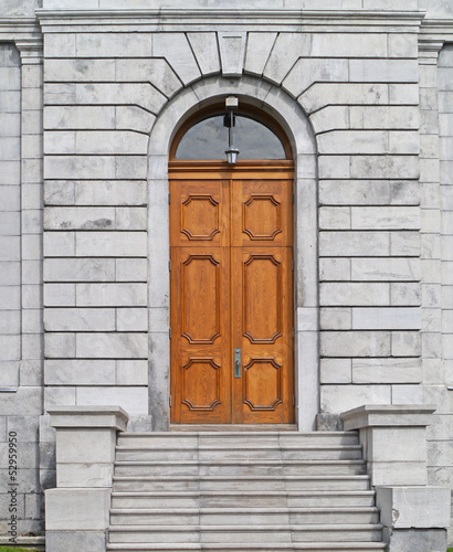
M236 115L233 145L239 148L239 159L286 159L282 142L271 129L241 115ZM189 128L175 159L225 159L227 148L228 128L223 115L215 115Z

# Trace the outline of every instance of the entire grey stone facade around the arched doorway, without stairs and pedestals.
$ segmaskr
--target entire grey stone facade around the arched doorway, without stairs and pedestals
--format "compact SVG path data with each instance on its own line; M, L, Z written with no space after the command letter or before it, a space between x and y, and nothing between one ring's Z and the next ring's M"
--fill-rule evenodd
M230 94L295 156L298 428L433 404L428 484L453 488L453 2L8 0L0 458L17 432L23 534L55 485L49 408L168 427L168 152Z

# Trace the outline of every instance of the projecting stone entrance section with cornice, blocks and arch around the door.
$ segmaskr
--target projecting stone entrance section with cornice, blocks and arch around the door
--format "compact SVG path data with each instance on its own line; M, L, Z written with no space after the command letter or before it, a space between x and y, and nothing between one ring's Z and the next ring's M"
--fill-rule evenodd
M295 152L298 428L418 399L422 13L200 10L182 29L180 11L45 8L44 410L168 427L168 151L228 94Z

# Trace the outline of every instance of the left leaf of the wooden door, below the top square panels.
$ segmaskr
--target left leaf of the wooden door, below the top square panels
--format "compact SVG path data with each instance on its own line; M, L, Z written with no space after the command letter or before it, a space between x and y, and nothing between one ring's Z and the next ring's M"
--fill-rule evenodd
M230 282L227 247L171 248L175 423L230 421Z

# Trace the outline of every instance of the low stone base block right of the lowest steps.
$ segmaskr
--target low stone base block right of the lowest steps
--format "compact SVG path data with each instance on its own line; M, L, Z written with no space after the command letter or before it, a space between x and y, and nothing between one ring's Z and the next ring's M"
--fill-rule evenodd
M387 529L388 552L445 552L445 529Z

